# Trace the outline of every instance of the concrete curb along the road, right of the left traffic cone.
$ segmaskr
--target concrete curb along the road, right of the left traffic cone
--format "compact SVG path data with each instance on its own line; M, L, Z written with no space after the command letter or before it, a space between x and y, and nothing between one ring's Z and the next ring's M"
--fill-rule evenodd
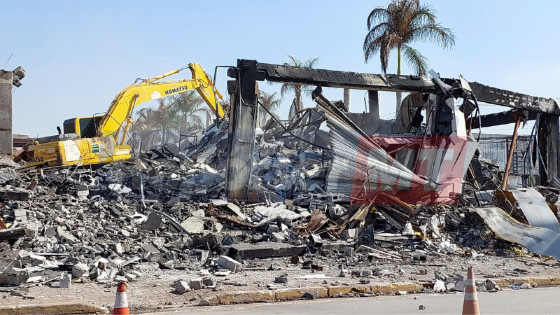
M484 279L486 280L486 279ZM520 285L523 282L532 287L560 286L560 279L553 277L527 277L527 278L501 278L491 279L501 288L511 285ZM301 288L285 288L277 290L253 290L221 292L203 299L199 305L216 306L228 304L248 304L262 302L280 302L307 299L335 298L362 295L394 295L399 292L420 293L424 285L420 282L382 283L382 284L357 284L349 286L312 286Z

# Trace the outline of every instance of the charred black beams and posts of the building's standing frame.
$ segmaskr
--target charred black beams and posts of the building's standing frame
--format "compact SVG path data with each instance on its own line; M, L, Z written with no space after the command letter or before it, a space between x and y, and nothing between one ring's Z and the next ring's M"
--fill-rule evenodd
M372 125L376 124L379 117L379 104L376 102L378 91L411 92L409 97L401 104L401 113L397 115L400 133L406 133L411 128L418 129L420 127L422 118L420 118L419 123L418 115L420 111L418 108L422 107L426 109L426 115L430 119L430 125L422 133L424 136L466 137L470 134L472 128L515 122L513 146L511 146L508 165L511 164L511 155L513 154L519 123L523 120L537 120L539 126L537 151L543 166L539 168L540 183L547 184L558 177L560 170L560 160L558 159L558 116L560 115L560 107L558 101L552 98L511 92L477 82L471 83L462 77L457 79L439 78L433 71L430 74L431 76L368 74L298 68L239 59L237 67L230 69L228 72L228 75L235 79L228 82L228 90L232 100L229 131L230 156L226 181L228 197L236 200L254 200L254 194L251 194L249 190L251 162L250 159L244 157L251 157L254 153L255 126L258 114L257 82L265 80L300 83L317 87L368 90L370 91L370 117L365 121ZM355 121L359 119L356 119L355 115L352 117L350 114L342 113L336 106L326 100L319 90L315 92L315 100L323 109L323 112L331 112L331 115L327 114L331 118L328 119L331 127L334 126L333 122L335 121L344 121L348 130L364 137L371 135L366 134L362 130L363 128L356 125ZM458 100L461 99L463 103L457 104ZM479 115L478 102L510 107L512 110L499 114ZM348 139L349 142L351 140ZM336 152L339 148L332 147L332 149ZM467 157L466 165L469 164L471 157L472 155ZM398 158L397 162L399 162ZM402 165L397 164L396 166L398 168ZM336 172L336 168L333 169ZM414 165L408 165L401 171L409 170L414 173L414 169ZM509 166L506 167L505 172L504 182L506 183L508 171ZM333 171L331 170L331 172ZM412 173L409 174L411 177L413 176Z

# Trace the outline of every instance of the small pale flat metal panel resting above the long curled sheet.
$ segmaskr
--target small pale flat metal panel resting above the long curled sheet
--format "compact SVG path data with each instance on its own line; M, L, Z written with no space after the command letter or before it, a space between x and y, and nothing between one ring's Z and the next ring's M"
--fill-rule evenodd
M534 188L510 190L517 204L523 211L527 221L532 226L550 229L554 232L560 231L560 223L550 210L546 199Z

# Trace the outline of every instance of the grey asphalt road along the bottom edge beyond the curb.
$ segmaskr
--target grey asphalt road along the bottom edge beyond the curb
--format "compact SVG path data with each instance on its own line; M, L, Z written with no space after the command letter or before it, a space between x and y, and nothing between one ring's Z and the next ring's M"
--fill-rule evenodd
M478 293L481 314L558 314L560 288ZM424 310L419 306L424 305ZM414 294L369 298L334 298L269 304L197 307L161 314L461 314L463 294Z

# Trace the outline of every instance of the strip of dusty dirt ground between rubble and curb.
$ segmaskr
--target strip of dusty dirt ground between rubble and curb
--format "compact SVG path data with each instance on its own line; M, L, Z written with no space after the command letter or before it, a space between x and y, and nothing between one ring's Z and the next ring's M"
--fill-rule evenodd
M560 278L559 262L549 257L496 257L476 258L456 254L428 255L426 261L365 261L344 267L343 272L334 260L318 260L323 270L302 269L293 265L289 258L261 259L247 262L249 267L239 273L215 277L216 287L193 290L184 294L175 291L175 280L189 281L206 275L206 270L160 270L146 272L145 276L130 282L127 287L128 303L135 313L165 311L179 307L204 305L204 301L223 292L276 290L283 288L328 287L341 285L420 282L425 292L431 292L436 273L451 278L466 277L467 267L473 266L477 282L486 279ZM328 263L331 264L328 264ZM353 263L350 263L351 265ZM270 270L269 270L270 269ZM367 276L357 277L352 271L371 270ZM280 275L287 274L287 283L275 283ZM305 277L310 278L305 278ZM301 277L301 278L298 278ZM518 285L521 285L520 280ZM534 286L534 285L533 285ZM32 304L48 302L80 301L103 306L114 305L116 283L74 282L68 289L58 287L57 282L28 284L19 288L2 288L0 305ZM445 293L442 293L445 294ZM348 295L354 296L354 295Z

